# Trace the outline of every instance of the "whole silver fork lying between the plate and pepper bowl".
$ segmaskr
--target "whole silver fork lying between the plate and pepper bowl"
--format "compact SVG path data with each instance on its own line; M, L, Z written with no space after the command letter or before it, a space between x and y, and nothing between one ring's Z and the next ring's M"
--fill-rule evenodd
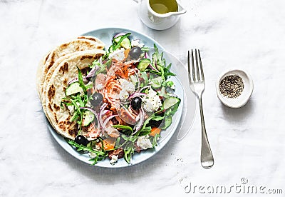
M204 113L202 107L202 94L205 88L204 82L204 72L202 68L202 61L200 56L200 51L195 49L195 59L192 57L192 66L190 65L190 51L188 51L188 79L190 84L190 89L199 99L200 116L201 116L201 127L202 127L202 147L201 147L201 164L204 168L211 168L214 165L214 158L212 155L211 148L209 147L209 141L207 138L206 128L204 125ZM199 61L198 61L199 56ZM196 64L194 64L194 61Z

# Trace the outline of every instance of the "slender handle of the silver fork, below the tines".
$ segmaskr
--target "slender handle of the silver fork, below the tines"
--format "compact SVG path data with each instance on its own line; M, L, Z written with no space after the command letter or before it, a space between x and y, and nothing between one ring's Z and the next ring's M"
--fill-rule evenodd
M201 147L201 164L203 168L211 168L214 165L214 157L209 147L209 141L207 138L206 127L204 125L204 113L202 106L202 96L199 96L199 108L201 116L201 127L202 127L202 147Z

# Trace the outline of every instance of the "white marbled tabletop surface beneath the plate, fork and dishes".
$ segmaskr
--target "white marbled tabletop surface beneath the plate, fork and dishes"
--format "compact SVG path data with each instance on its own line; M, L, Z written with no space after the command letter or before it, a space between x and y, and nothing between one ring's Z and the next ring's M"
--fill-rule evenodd
M249 181L243 186L282 188L276 196L284 196L284 1L182 3L187 14L175 26L153 31L131 0L0 1L0 196L221 196L207 187L239 186L241 178ZM188 49L201 49L213 168L199 163L199 116L182 141L172 138L159 154L129 168L88 166L58 146L36 94L38 61L66 39L110 26L147 34L183 63ZM217 76L229 68L247 69L254 79L254 93L239 109L223 106L215 93ZM196 191L185 193L190 183ZM227 196L251 195L232 188Z

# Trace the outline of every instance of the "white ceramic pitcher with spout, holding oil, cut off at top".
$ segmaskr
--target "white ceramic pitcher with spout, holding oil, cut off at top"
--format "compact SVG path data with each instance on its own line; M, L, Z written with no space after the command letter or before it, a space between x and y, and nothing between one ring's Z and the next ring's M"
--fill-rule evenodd
M164 30L176 24L181 14L185 14L186 9L176 0L177 11L170 11L165 14L155 12L151 6L152 0L134 0L138 3L138 15L142 22L151 29ZM165 0L166 1L166 0Z

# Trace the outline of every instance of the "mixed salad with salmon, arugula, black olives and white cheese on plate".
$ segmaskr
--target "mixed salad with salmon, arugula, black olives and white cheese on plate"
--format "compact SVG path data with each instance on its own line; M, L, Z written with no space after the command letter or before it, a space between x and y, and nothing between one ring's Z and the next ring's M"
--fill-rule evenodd
M155 148L180 105L171 63L157 46L150 54L148 46L131 38L130 33L113 36L105 56L78 69L61 101L79 130L74 141L66 141L88 154L93 165L105 158L112 165L120 158L130 163L134 153Z

